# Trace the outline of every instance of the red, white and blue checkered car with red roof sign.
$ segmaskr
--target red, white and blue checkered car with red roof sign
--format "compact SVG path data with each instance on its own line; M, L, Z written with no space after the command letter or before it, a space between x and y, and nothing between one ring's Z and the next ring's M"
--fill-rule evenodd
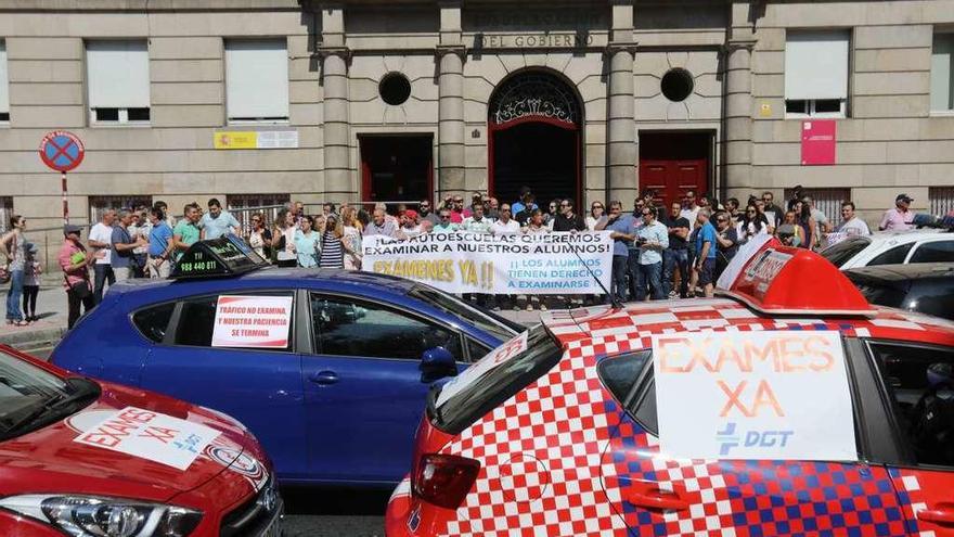
M954 324L751 254L720 297L553 312L433 391L387 535L954 536Z

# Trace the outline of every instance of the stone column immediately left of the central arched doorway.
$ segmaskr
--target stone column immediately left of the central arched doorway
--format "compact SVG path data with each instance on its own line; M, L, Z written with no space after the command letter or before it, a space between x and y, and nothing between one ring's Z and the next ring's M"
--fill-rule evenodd
M465 190L464 55L461 46L438 47L438 199Z

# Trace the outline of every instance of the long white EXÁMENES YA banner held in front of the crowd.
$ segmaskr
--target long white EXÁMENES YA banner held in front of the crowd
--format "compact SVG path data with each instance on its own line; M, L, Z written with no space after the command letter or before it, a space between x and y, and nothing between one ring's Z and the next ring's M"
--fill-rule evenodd
M603 294L613 276L609 231L425 233L363 239L362 268L417 280L448 293ZM595 278L594 278L595 277Z

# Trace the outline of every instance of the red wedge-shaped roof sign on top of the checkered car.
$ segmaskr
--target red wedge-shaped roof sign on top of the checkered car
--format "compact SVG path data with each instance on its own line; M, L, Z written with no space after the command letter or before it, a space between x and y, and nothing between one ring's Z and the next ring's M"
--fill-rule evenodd
M733 259L735 260L735 259ZM871 316L875 309L835 265L770 240L744 261L725 294L766 314Z

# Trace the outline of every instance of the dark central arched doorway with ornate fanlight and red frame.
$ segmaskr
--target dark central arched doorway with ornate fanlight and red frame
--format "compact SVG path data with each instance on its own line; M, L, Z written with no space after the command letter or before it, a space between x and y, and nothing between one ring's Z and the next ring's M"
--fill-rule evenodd
M529 187L543 207L555 197L580 206L582 110L556 75L526 71L505 79L488 106L490 191L501 203Z

